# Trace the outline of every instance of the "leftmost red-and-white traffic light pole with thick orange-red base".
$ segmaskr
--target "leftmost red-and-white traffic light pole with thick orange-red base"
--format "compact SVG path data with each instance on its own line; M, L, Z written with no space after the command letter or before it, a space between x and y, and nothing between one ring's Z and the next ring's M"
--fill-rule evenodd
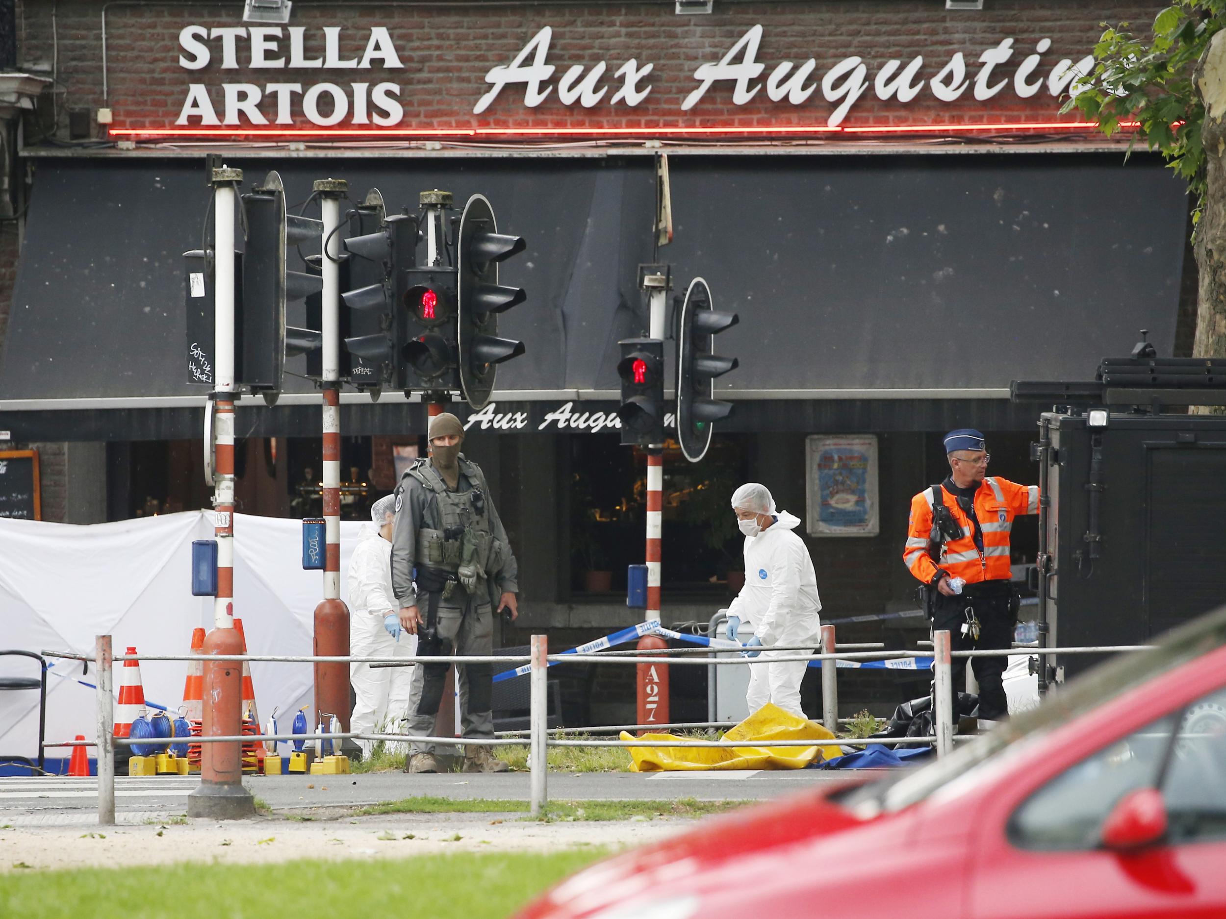
M219 167L212 170L213 288L213 401L216 420L216 464L213 467L213 510L217 539L217 597L213 599L213 629L204 645L202 736L239 736L243 733L243 664L238 660L210 663L213 654L242 654L243 638L234 629L234 200L243 183L243 170ZM237 820L255 815L255 799L243 787L239 741L201 744L200 785L188 795L188 816Z

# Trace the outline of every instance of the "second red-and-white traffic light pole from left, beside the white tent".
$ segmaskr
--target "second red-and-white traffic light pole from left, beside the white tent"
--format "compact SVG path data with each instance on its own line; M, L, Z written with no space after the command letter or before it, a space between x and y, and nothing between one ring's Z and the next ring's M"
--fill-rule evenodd
M315 654L348 657L349 609L341 602L341 199L343 179L320 179L314 191L324 218L322 388L324 388L324 600L315 607ZM315 717L336 716L349 729L348 664L315 664Z

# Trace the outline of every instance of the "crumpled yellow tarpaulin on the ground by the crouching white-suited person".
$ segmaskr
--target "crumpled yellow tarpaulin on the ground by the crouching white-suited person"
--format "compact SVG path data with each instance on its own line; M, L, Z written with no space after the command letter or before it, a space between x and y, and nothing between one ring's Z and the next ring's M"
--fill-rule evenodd
M635 740L622 732L623 740ZM680 772L685 770L803 770L819 760L832 760L842 751L825 746L690 746L694 738L676 734L644 734L639 740L676 740L677 746L631 746L631 772ZM723 735L725 740L834 740L835 735L815 722L785 712L767 702Z

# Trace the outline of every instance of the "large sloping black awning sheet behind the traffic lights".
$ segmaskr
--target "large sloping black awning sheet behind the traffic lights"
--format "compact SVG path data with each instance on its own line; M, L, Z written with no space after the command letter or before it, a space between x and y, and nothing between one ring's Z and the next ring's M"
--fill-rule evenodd
M270 163L232 162L249 183ZM457 202L485 192L500 228L528 244L503 273L528 301L501 322L527 355L499 388L617 388L617 341L646 325L650 158L276 164L291 203L324 174L348 179L354 199L379 187L394 210L423 189ZM1085 377L1140 327L1171 353L1187 202L1154 157L687 156L671 172L676 240L661 259L676 293L702 276L716 308L741 314L717 339L741 360L721 388L1003 392L1013 379ZM208 196L189 161L38 163L0 410L202 395L186 382L181 252L200 246ZM286 390L310 385L288 377Z

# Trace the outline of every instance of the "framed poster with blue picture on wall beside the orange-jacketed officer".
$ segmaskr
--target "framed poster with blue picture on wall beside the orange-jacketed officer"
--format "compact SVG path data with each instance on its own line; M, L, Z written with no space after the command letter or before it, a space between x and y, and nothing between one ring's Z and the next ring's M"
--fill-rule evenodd
M809 535L878 534L880 521L874 435L807 437L804 478Z

